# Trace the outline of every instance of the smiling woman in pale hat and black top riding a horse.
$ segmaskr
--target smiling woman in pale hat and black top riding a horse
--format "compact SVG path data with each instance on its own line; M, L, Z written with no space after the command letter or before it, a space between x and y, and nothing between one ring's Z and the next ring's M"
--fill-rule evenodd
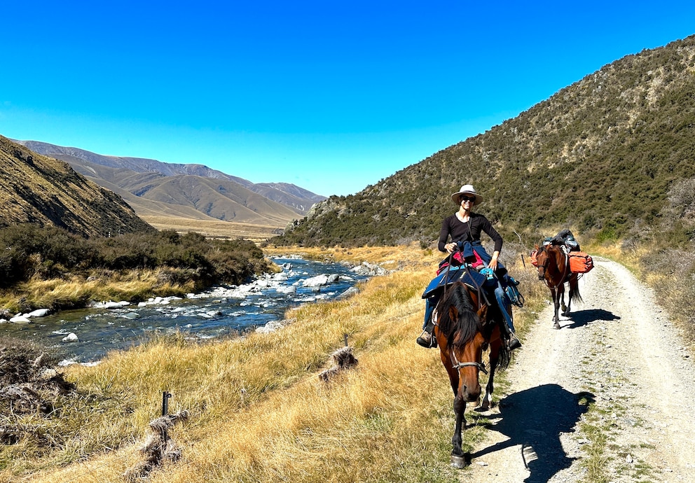
M463 258L467 262L476 260L477 255L486 267L494 272L497 278L495 300L504 321L507 322L506 325L504 323L502 325L507 335L508 348L511 350L521 347L521 342L514 334L511 301L503 287L503 284L506 286L509 280L507 269L497 262L497 258L500 257L500 251L502 251L502 237L493 228L488 218L472 211L476 204L480 204L483 201L483 197L476 193L472 185L464 185L457 193L451 195L451 200L457 205L458 211L444 218L441 223L439 251L451 255L453 252L461 249ZM495 250L492 256L481 245L480 236L482 232L485 232L495 243ZM451 241L448 241L449 237ZM446 281L444 283L446 284ZM434 346L432 312L437 302L439 302L441 290L427 290L426 293L429 293L429 295L425 298L425 322L422 325L422 335L418 337L417 342L421 346L429 348Z

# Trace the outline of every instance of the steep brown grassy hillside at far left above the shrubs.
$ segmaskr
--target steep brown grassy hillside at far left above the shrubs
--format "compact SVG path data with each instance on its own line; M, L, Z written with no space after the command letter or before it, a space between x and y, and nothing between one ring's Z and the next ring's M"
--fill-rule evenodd
M54 225L85 237L154 230L118 195L2 136L0 206L0 226Z

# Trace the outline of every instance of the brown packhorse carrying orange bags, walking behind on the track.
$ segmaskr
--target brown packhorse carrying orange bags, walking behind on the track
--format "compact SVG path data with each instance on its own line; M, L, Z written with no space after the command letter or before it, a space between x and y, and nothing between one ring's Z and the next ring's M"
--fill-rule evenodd
M570 271L570 257L563 248L558 245L546 245L540 248L536 246L536 263L538 267L538 279L545 282L553 295L555 315L553 316L553 328L560 328L560 306L563 316L570 315L572 300L582 302L579 295L579 278L576 273ZM565 305L565 283L570 286L570 295Z

